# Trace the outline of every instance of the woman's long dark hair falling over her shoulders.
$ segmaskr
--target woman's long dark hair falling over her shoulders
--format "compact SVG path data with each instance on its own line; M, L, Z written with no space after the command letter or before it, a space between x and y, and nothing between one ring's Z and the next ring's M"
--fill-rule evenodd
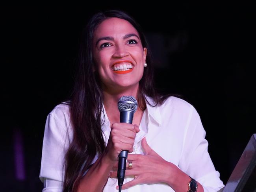
M77 191L82 174L89 168L96 153L102 154L105 149L101 130L104 123L101 119L104 98L97 72L93 72L95 63L93 62L92 40L93 31L109 17L117 17L130 22L138 31L143 48L147 48L146 63L148 66L144 69L143 77L139 82L137 98L140 109L146 109L145 102L148 101L145 95L154 100L153 106L163 103L167 98L167 96L160 96L154 89L152 54L141 26L135 22L134 18L120 10L108 10L93 15L82 34L74 89L69 102L73 138L65 155L63 192Z

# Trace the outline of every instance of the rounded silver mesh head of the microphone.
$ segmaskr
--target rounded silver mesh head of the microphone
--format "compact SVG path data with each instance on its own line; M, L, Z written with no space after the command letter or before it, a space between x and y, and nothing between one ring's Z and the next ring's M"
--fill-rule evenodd
M138 103L134 96L122 96L119 99L117 105L120 112L129 110L135 113L138 108Z

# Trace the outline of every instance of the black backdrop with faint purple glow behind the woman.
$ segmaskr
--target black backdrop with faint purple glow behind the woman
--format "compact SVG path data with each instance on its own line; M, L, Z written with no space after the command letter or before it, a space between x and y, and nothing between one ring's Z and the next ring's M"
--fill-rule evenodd
M208 151L226 184L256 133L255 7L241 2L118 5L1 8L3 191L42 190L46 116L72 89L83 26L105 8L127 11L141 24L155 56L158 89L182 94L197 109Z

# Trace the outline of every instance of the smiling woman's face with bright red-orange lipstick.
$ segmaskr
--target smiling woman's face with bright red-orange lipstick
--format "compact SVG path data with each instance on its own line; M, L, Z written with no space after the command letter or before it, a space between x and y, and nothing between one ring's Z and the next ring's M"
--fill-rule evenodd
M147 48L130 22L111 17L98 25L93 33L94 70L103 83L103 90L139 85L143 76Z

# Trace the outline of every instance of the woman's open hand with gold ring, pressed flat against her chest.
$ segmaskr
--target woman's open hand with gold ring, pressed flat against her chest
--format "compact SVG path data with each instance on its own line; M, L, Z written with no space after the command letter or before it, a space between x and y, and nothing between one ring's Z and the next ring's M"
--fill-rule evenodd
M134 175L135 179L125 183L122 189L129 188L137 184L154 184L170 182L170 174L175 174L178 169L173 163L165 161L147 144L144 137L141 141L141 146L145 151L145 155L128 154L128 161L132 161L132 168L127 169L125 175ZM118 162L113 166L114 170L118 167ZM110 177L117 177L117 171L110 173ZM118 188L118 186L117 186Z

